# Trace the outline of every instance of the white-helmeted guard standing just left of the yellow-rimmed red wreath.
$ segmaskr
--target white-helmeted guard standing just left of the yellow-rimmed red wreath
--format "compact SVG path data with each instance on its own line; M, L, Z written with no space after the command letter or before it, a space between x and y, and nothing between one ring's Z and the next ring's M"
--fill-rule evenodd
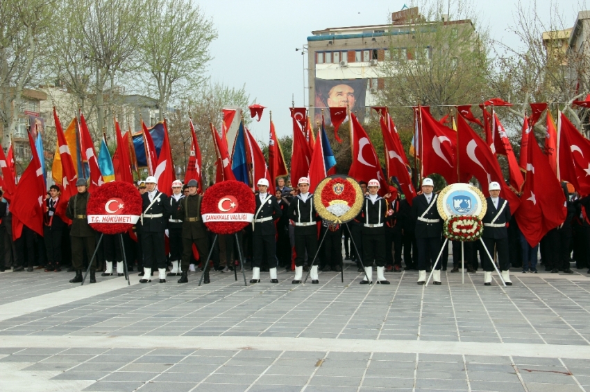
M295 278L292 283L301 283L303 276L303 262L305 253L307 259L313 260L317 253L317 212L314 208L313 193L310 193L310 179L301 177L298 181L299 194L293 198L289 205L289 219L295 223ZM317 274L317 263L311 268L310 276L312 284L317 285L319 278Z

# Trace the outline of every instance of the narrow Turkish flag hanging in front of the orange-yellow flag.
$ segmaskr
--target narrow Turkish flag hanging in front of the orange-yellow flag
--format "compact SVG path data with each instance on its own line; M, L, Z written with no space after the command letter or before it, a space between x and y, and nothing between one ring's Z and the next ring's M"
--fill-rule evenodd
M70 224L71 220L65 215L65 210L69 198L78 193L78 190L76 189L76 179L78 179L78 176L76 175L74 160L71 158L71 152L69 151L69 146L67 145L67 140L65 139L65 134L55 107L53 107L53 120L56 123L58 150L60 152L60 162L62 166L61 196L56 207L56 215L67 224Z

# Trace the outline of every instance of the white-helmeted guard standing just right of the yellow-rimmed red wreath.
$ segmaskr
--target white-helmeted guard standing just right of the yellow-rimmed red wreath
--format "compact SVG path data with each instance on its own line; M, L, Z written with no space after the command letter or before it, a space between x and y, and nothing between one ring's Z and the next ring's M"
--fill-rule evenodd
M371 179L369 184L367 184L367 188L369 188L369 195L364 197L362 208L362 262L364 264L364 278L360 283L362 285L371 283L374 260L377 265L377 283L389 285L389 281L383 275L383 271L385 270L385 218L387 217L387 200L377 194L380 185L376 179Z

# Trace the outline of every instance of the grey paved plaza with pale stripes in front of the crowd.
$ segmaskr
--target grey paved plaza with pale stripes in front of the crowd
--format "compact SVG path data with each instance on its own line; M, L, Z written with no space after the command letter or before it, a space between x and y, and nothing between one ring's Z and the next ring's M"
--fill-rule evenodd
M0 274L0 391L590 391L590 275ZM249 274L247 271L247 278ZM374 275L373 275L374 276ZM310 282L310 280L308 280Z

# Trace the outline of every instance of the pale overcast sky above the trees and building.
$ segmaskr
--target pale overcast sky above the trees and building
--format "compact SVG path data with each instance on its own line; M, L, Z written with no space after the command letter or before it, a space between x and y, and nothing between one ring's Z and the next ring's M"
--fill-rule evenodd
M509 31L515 24L516 1L471 2L476 4L480 24L489 26L493 39L510 46L519 44ZM209 66L210 76L230 87L246 84L251 100L255 98L267 107L260 123L253 123L251 130L256 139L268 143L269 109L278 136L283 136L292 132L288 108L293 94L295 106L303 105L302 57L307 66L307 55L302 56L295 48L307 44L313 30L385 24L390 21L391 12L401 10L406 3L410 6L411 1L209 0L199 3L205 15L213 18L219 33L211 46L215 58ZM546 23L550 3L550 0L537 0L537 12L547 15ZM559 4L567 27L573 26L578 10L588 9L585 1L562 0Z

